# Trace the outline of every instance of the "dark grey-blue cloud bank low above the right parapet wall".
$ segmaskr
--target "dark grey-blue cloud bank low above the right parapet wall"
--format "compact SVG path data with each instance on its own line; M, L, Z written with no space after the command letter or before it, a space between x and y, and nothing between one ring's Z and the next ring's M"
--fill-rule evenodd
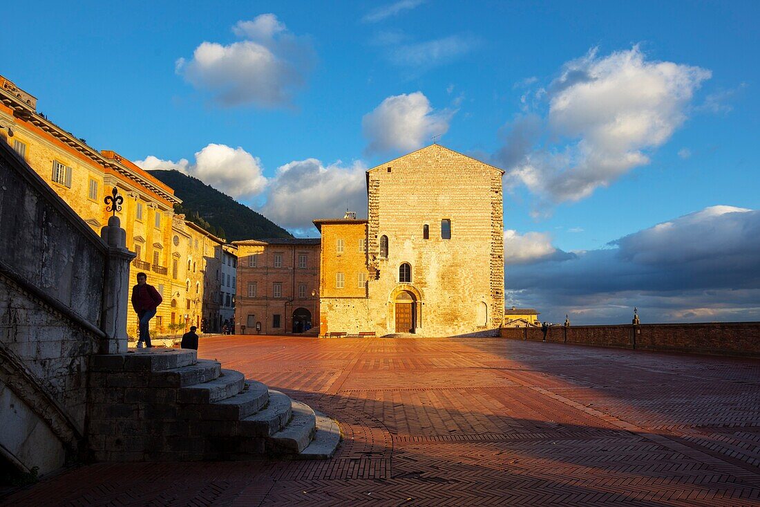
M758 252L760 211L711 206L562 262L508 266L506 290L557 322L622 323L634 306L645 322L757 320Z

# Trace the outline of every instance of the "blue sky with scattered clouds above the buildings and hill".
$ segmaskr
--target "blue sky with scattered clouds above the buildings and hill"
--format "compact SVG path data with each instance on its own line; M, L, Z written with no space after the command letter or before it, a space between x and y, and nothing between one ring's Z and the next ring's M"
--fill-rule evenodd
M315 235L315 216L361 209L366 167L442 134L508 171L508 302L553 321L628 320L637 302L651 320L760 317L749 236L760 209L757 2L5 10L17 21L3 28L0 73L51 120L144 167L194 174L297 234ZM619 241L651 234L659 257ZM702 234L718 240L704 252L709 273L725 276L650 283L672 273L670 250L694 253ZM743 262L743 282L727 282ZM637 281L591 284L583 297L537 281L591 276L589 263L594 276L632 269ZM704 263L692 267L682 276L705 278Z

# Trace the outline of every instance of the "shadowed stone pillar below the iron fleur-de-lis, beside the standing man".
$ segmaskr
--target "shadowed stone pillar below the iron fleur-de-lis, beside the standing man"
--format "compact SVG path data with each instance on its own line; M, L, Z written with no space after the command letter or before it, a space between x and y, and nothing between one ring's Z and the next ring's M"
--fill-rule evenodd
M100 343L100 354L127 352L127 311L129 301L129 263L135 253L126 247L127 232L119 217L108 219L100 229L100 238L108 245L106 277L103 281L103 324L106 338Z

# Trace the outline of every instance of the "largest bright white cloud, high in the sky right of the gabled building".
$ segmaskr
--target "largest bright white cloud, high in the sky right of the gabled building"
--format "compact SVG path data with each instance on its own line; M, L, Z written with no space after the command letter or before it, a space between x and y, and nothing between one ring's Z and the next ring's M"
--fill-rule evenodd
M663 145L682 125L695 91L710 76L699 67L647 61L638 46L605 57L591 50L566 63L546 90L545 132L553 144L519 161L504 158L511 170L508 181L555 202L590 196L648 164L647 151ZM515 125L534 129L533 124ZM524 137L513 135L515 142ZM500 155L515 151L507 141Z

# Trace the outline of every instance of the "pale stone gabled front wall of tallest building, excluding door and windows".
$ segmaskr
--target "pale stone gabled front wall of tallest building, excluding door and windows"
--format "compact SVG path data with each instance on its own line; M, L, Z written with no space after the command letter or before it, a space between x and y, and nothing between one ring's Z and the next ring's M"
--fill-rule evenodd
M498 334L504 305L502 172L431 145L368 174L371 264L379 238L388 236L388 258L370 266L379 277L369 280L368 330L378 336L395 332L391 298L399 266L410 263L410 285L422 298L417 333ZM442 239L442 219L451 220L451 239ZM423 225L429 225L429 239Z

